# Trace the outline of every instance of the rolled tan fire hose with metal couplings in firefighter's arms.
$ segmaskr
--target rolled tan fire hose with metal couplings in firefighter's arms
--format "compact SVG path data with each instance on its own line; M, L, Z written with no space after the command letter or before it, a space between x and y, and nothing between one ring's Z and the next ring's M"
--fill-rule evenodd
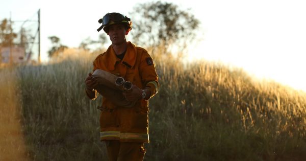
M124 81L122 77L117 77L103 70L95 70L91 77L98 83L96 87L98 93L112 103L122 107L135 105L135 102L127 101L122 94L123 91L132 90L132 82Z

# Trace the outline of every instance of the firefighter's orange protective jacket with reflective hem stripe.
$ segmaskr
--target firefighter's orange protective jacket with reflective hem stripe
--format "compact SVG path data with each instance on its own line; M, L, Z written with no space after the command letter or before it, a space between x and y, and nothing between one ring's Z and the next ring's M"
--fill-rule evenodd
M158 75L155 64L146 50L127 42L124 58L116 57L112 45L108 50L97 56L93 62L93 71L96 69L110 72L125 81L130 81L143 89L149 87L151 96L158 93ZM97 97L97 92L95 91ZM89 96L89 95L87 95ZM91 98L91 99L95 99ZM139 100L132 108L116 106L103 98L99 107L100 139L120 140L121 142L148 143L148 100Z

